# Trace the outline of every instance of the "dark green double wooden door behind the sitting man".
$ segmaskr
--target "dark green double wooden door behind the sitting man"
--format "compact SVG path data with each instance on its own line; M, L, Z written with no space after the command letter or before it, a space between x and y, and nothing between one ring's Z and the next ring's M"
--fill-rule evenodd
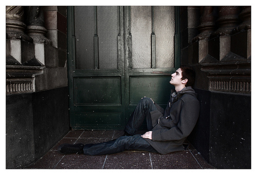
M143 96L166 106L179 67L177 8L67 8L72 129L123 129Z

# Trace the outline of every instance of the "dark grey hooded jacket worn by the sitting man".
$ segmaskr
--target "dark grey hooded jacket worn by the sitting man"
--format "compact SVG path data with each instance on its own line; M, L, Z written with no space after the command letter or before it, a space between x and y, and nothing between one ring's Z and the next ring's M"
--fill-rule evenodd
M171 90L165 110L155 104L158 110L151 112L154 127L152 140L145 139L161 154L185 150L183 142L193 130L199 116L199 101L191 86L177 92L175 98L174 92L174 89Z

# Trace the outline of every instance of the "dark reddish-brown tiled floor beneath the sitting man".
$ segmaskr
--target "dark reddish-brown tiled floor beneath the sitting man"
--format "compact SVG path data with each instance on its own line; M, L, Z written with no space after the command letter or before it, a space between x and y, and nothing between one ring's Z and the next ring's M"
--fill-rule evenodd
M139 134L141 134L139 131ZM208 164L192 145L186 151L162 155L130 150L108 155L59 154L62 143L98 143L116 139L121 130L69 131L40 160L25 169L215 169Z

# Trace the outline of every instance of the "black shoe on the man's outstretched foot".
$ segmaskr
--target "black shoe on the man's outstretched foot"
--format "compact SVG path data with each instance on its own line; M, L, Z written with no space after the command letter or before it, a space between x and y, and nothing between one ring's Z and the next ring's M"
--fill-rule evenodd
M81 154L83 153L83 147L84 145L82 143L79 144L62 144L58 147L58 152L61 154Z

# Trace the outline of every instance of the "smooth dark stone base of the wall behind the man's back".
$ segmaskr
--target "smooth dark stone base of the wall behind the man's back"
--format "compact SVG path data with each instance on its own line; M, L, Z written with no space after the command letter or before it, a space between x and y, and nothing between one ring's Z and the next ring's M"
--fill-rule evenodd
M195 89L200 115L188 140L216 168L251 168L251 96Z

